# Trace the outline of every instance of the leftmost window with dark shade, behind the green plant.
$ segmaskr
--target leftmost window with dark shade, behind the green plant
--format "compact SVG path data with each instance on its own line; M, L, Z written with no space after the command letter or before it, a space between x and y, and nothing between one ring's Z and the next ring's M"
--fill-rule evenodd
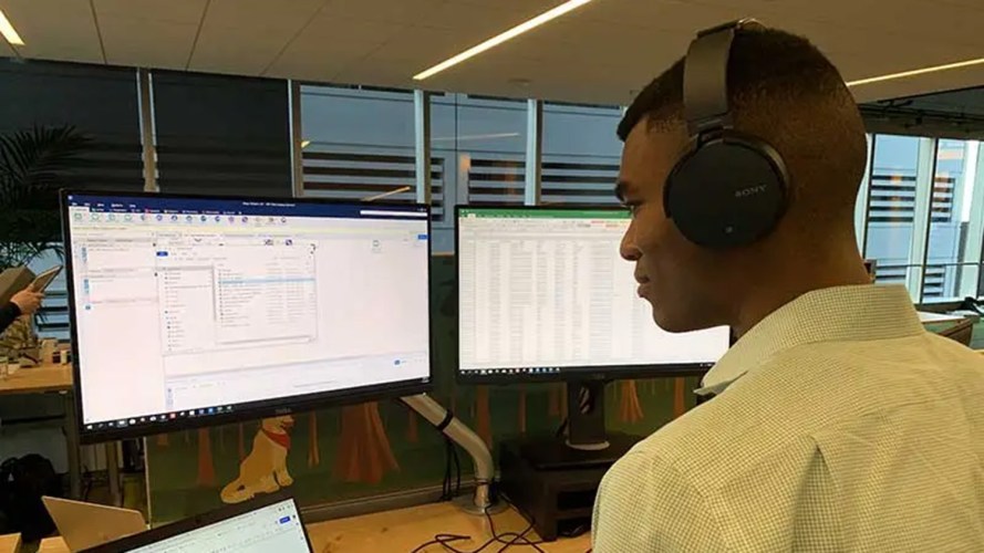
M91 142L75 161L65 166L64 186L102 190L143 189L136 70L0 60L0 135L12 136L34 127L65 125L75 127ZM54 205L51 216L58 217ZM25 229L12 230L13 236L3 236L0 240L18 240L14 237ZM53 234L60 237L58 228ZM62 260L55 251L33 259L17 255L0 260L0 264L18 262L27 262L38 273ZM66 340L69 309L64 273L52 282L46 292L41 316L37 320L38 333L43 337Z

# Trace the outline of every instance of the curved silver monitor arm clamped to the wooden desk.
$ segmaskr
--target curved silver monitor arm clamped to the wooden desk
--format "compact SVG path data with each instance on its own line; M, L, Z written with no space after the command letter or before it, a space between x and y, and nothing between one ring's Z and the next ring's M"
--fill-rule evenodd
M434 425L452 441L462 446L472 456L472 462L475 466L474 507L467 505L465 510L484 515L489 508L494 507L489 486L495 477L495 465L493 465L488 447L486 447L477 434L465 426L452 411L445 409L433 397L426 394L418 394L400 399L427 419L428 422Z

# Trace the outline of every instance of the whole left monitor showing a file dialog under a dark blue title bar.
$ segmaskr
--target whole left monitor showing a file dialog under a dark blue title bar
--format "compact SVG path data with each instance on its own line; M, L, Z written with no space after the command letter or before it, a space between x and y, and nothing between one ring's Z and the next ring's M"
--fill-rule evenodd
M427 207L62 199L84 441L429 388Z

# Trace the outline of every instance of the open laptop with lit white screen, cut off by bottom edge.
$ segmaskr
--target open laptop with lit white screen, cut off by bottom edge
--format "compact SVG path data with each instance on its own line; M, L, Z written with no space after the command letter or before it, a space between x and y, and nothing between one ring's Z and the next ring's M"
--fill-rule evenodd
M280 491L184 519L85 553L311 553L293 498Z

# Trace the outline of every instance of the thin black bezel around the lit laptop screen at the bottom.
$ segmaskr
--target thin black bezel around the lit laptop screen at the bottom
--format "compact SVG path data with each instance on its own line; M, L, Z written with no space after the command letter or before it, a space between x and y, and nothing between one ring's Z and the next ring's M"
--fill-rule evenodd
M304 523L304 518L301 514L301 508L300 505L298 505L297 499L294 499L293 494L291 494L287 489L281 489L272 493L257 495L241 503L224 505L213 511L180 519L167 524L163 524L160 526L152 528L138 534L131 534L125 538L104 543L102 545L96 545L95 547L85 550L84 553L127 553L137 547L153 545L164 540L168 540L191 532L194 530L208 526L210 524L216 524L229 519L235 519L236 517L249 513L251 511L258 511L260 509L265 509L267 507L281 503L283 501L291 501L293 503L294 510L298 512L298 521L301 523L301 528L303 528L304 530L304 540L308 542L308 551L314 551L314 547L311 544L311 535L308 533L308 526Z

